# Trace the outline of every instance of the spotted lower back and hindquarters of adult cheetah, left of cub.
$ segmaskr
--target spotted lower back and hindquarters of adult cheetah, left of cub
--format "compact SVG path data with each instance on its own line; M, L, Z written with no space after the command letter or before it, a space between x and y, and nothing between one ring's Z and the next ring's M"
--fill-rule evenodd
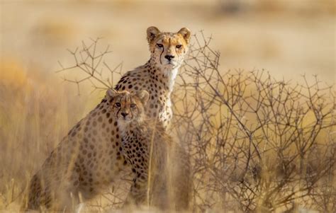
M62 139L28 184L22 209L73 211L108 188L128 163L116 119L103 98Z

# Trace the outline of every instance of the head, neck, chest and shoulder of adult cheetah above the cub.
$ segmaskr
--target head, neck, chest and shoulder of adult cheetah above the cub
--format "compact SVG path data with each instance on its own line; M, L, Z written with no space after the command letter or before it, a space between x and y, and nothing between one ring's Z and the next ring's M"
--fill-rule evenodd
M148 117L157 117L164 127L172 119L170 95L179 67L189 49L191 32L181 28L177 33L162 33L156 27L147 28L151 57L146 64L125 73L115 89L137 92L147 90L150 98L145 107Z

